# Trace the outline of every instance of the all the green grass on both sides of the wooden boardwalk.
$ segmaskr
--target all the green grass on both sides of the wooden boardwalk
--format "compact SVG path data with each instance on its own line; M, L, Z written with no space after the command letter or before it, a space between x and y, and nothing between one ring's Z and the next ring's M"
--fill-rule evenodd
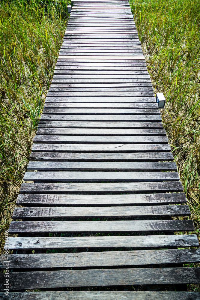
M25 172L67 26L67 4L0 3L1 230L8 228ZM130 5L154 91L162 91L167 100L163 125L200 236L200 2L130 0Z

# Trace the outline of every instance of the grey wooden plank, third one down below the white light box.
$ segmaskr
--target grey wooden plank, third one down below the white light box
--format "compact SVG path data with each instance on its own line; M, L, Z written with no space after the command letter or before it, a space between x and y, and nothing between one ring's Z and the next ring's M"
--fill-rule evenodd
M81 116L81 115L80 115ZM47 116L48 118L52 118L52 115ZM93 116L91 116L93 117ZM95 116L96 117L96 116ZM102 117L102 116L101 116ZM45 119L45 116L44 116ZM57 121L45 121L43 116L40 117L40 121L38 124L38 128L163 128L161 122L155 122L154 119L150 119L149 116L146 120L142 120L145 122L107 122L102 120L101 122L93 122L90 119L88 121L63 121L62 116L60 122ZM105 118L104 118L105 119ZM153 121L153 122L152 122ZM157 120L157 121L161 121Z

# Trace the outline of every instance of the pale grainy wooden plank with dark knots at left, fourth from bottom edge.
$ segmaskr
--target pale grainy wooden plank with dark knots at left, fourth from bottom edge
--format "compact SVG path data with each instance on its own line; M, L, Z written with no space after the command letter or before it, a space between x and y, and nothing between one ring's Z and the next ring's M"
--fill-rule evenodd
M10 237L9 249L199 247L196 235ZM142 254L142 252L140 251Z

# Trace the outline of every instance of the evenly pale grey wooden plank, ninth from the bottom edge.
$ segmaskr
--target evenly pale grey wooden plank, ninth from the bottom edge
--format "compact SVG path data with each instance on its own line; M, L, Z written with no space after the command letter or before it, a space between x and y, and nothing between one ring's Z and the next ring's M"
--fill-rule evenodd
M73 181L128 181L128 182L154 182L154 181L178 181L178 172L79 172L79 171L38 171L25 172L24 181L48 181L48 182L73 182Z

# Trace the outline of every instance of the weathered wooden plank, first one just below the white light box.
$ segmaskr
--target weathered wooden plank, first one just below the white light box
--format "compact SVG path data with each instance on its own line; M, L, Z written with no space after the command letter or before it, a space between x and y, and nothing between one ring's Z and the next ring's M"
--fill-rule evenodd
M43 109L43 114L77 114L77 113L88 113L88 114L135 114L135 115L160 115L160 110L152 110L152 109L129 109L129 108L58 108L58 109Z

